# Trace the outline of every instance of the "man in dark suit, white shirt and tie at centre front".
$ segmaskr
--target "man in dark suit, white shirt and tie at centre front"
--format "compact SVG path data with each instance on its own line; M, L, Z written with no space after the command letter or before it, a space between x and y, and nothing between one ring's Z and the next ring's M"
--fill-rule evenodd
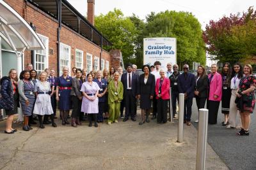
M127 73L122 74L121 81L124 86L124 106L125 118L123 122L131 117L132 121L136 121L135 107L136 98L138 97L138 75L132 73L132 64L128 64Z

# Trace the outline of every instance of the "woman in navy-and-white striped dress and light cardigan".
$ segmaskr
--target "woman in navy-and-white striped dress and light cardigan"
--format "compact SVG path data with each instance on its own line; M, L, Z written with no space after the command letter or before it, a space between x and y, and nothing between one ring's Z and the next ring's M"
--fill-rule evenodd
M35 94L34 94L34 84L30 80L29 71L25 70L20 73L20 81L18 83L18 91L20 95L20 105L22 113L24 115L24 123L22 129L24 131L29 131L32 128L28 124L29 116L32 115L34 104L35 104Z

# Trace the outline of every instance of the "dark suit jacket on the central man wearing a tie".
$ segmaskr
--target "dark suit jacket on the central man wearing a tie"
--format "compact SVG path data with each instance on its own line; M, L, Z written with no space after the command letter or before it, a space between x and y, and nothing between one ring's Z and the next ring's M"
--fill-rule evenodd
M137 94L138 94L138 75L132 73L132 84L131 84L131 87L132 87L132 95L133 97L135 97ZM124 73L122 74L122 77L121 77L121 81L123 83L123 86L124 86L124 97L126 95L126 90L127 90L127 76L128 76L128 73Z

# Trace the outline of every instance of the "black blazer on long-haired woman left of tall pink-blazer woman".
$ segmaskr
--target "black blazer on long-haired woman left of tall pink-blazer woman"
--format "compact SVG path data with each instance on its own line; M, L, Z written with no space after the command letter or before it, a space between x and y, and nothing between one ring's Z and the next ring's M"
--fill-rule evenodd
M197 80L197 76L195 80ZM195 81L196 82L196 81ZM195 83L195 90L199 92L198 97L199 98L207 98L208 97L208 87L209 87L209 79L208 76L201 76L197 83Z

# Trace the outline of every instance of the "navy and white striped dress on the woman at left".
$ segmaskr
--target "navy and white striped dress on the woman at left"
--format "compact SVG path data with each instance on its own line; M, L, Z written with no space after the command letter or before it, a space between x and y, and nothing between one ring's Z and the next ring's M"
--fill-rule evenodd
M23 81L23 80L21 80L21 81ZM23 81L23 83L24 83L23 92L24 92L24 95L27 97L27 99L29 101L29 105L27 106L26 101L23 98L20 99L22 113L25 116L32 115L33 109L34 109L35 94L33 94L34 85L31 82L32 81L28 81L28 82Z

